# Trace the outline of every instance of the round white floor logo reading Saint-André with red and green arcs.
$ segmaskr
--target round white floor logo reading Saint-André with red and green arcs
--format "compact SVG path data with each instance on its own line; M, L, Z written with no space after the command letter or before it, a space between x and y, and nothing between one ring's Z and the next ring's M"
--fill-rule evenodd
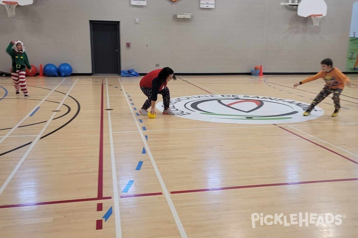
M208 122L238 124L294 123L316 119L324 111L315 107L303 116L310 104L278 97L253 95L195 95L170 100L175 116ZM156 104L163 111L163 101Z

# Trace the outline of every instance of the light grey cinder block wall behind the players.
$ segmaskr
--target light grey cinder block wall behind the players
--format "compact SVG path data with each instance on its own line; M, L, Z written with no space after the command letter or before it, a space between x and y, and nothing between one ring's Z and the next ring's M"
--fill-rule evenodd
M0 70L9 71L5 48L25 43L30 63L68 62L74 73L91 73L89 20L120 21L122 70L146 73L170 66L182 73L316 72L331 57L345 69L352 5L355 0L326 0L328 15L320 27L297 16L286 0L218 0L200 9L199 0L34 0L9 18L0 6ZM193 13L194 21L174 14ZM139 24L135 24L139 18ZM125 42L131 42L126 49Z

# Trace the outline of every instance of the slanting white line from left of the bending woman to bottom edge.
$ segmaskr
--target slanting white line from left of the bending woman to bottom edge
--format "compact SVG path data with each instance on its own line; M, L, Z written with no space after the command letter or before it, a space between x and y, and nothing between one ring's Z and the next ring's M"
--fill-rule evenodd
M175 206L174 206L173 201L171 201L171 198L170 198L168 189L166 188L165 183L164 183L164 181L163 181L163 178L161 177L161 174L160 174L160 172L159 172L159 169L158 169L158 167L157 167L157 165L156 165L156 163L155 163L154 157L153 157L153 155L152 155L152 153L151 153L151 151L150 151L150 148L149 148L149 146L148 146L148 144L147 144L147 142L146 142L146 139L145 139L145 137L144 137L144 135L143 135L143 132L141 131L141 128L140 128L139 123L138 123L138 120L137 120L136 116L134 115L134 111L133 111L133 109L132 109L132 107L131 107L131 103L130 103L129 100L128 100L128 96L127 96L127 94L126 94L126 91L124 90L124 87L123 87L123 85L122 85L122 82L121 82L120 78L118 78L118 82L119 82L120 85L121 85L122 93L123 93L124 97L125 97L126 100L127 100L127 104L128 104L128 106L129 106L129 109L131 110L133 119L134 119L134 121L135 121L135 123L136 123L136 125L137 125L137 128L138 128L139 134L140 134L140 136L142 137L142 141L143 141L144 146L145 146L145 148L146 148L146 150L147 150L147 153L148 153L148 156L149 156L149 158L150 158L150 161L152 162L152 165L153 165L155 174L156 174L156 176L158 177L160 186L161 186L161 188L163 189L164 196L165 196L165 198L166 198L166 201L167 201L168 204L169 204L170 211L171 211L171 213L173 214L174 221L175 221L175 223L176 223L176 226L178 227L179 233L180 233L180 235L181 235L182 237L187 238L188 236L187 236L187 234L185 233L185 230L184 230L184 227L183 227L183 223L180 221L178 212L177 212L176 209L175 209Z

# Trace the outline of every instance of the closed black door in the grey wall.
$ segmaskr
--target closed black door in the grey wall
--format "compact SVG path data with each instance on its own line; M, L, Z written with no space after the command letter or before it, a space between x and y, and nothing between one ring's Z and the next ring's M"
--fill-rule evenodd
M92 74L120 74L118 21L90 21Z

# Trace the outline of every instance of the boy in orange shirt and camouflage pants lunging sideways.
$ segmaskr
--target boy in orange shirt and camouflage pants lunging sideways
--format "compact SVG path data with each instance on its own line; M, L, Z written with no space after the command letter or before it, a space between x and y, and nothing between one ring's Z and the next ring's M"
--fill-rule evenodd
M313 108L333 92L332 99L334 102L334 112L332 113L332 116L336 117L338 116L340 108L339 95L340 93L342 93L345 83L350 86L350 82L347 76L345 76L339 69L333 67L333 62L331 59L322 60L321 66L322 71L320 71L314 76L311 76L305 80L302 80L301 82L296 83L293 87L296 88L303 83L311 82L313 80L322 78L326 82L326 85L315 97L315 99L312 101L311 105L303 113L303 115L310 115Z

